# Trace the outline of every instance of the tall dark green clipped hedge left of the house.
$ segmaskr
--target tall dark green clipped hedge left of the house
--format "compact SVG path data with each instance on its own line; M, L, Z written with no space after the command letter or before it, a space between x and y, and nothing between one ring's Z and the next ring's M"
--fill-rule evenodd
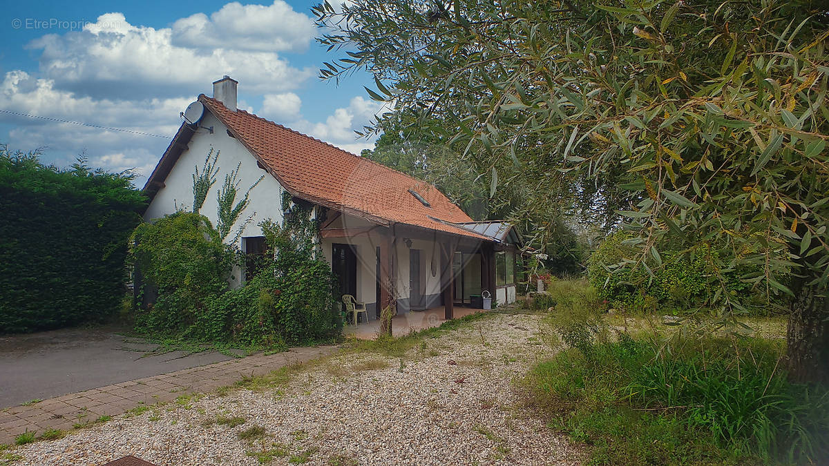
M145 205L131 179L0 146L0 333L101 321L119 307Z

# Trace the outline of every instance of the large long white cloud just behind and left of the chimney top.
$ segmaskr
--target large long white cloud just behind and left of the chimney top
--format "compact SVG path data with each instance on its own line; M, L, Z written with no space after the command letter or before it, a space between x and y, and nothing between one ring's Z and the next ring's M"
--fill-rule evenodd
M176 46L172 29L133 26L117 12L99 16L83 31L42 36L28 47L41 50L41 73L56 87L104 98L193 95L222 75L249 92L283 91L315 73L290 66L273 51Z

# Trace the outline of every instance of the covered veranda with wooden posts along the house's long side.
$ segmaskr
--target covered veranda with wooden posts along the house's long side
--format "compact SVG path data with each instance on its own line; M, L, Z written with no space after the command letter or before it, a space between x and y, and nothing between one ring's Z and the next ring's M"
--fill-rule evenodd
M399 336L478 312L482 294L492 305L515 301L517 241L511 226L434 224L443 230L381 226L328 212L320 226L320 245L337 275L337 299L350 295L357 308L366 310L346 316L351 322L344 328L347 334L377 337L386 307L395 316L390 333Z

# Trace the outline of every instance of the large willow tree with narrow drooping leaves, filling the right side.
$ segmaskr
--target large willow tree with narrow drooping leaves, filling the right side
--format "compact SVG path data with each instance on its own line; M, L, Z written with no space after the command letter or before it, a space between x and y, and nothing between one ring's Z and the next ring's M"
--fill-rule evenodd
M572 177L623 189L612 205L637 252L619 269L651 273L665 245L704 244L715 276L755 270L742 279L790 313L790 375L829 381L822 6L356 0L314 13L318 40L342 53L323 78L369 70L372 98L462 148L493 192L509 166L538 187L526 208L568 201L556 186L578 196ZM721 288L706 304L744 311Z

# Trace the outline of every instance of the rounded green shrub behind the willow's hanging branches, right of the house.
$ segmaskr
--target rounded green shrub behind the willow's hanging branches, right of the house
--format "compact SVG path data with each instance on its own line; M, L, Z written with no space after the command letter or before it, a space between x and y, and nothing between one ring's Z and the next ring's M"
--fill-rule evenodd
M666 247L661 251L662 265L648 258L651 276L642 265L633 270L619 266L636 255L636 250L625 243L630 239L626 231L610 235L588 260L589 283L614 308L675 314L706 308L721 289L722 279L727 292L738 297L751 313L768 312L764 297L740 279L749 270L718 267L719 257L710 245L695 245L690 259Z

